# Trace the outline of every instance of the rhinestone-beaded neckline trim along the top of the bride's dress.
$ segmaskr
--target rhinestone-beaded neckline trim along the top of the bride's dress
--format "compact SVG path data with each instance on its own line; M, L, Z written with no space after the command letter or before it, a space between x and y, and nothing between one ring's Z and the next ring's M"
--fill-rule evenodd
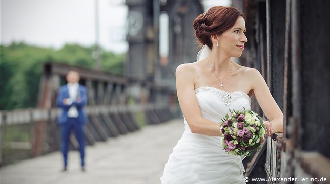
M220 89L217 89L215 87L200 87L195 89L195 94L197 94L198 92L202 92L202 91L208 91L211 92L215 95L217 95L220 100L222 102L224 102L224 104L226 106L229 106L232 102L234 102L237 99L240 98L245 98L247 100L249 100L250 104L251 104L251 98L248 96L248 94L242 92L242 91L234 91L234 92L226 92Z

